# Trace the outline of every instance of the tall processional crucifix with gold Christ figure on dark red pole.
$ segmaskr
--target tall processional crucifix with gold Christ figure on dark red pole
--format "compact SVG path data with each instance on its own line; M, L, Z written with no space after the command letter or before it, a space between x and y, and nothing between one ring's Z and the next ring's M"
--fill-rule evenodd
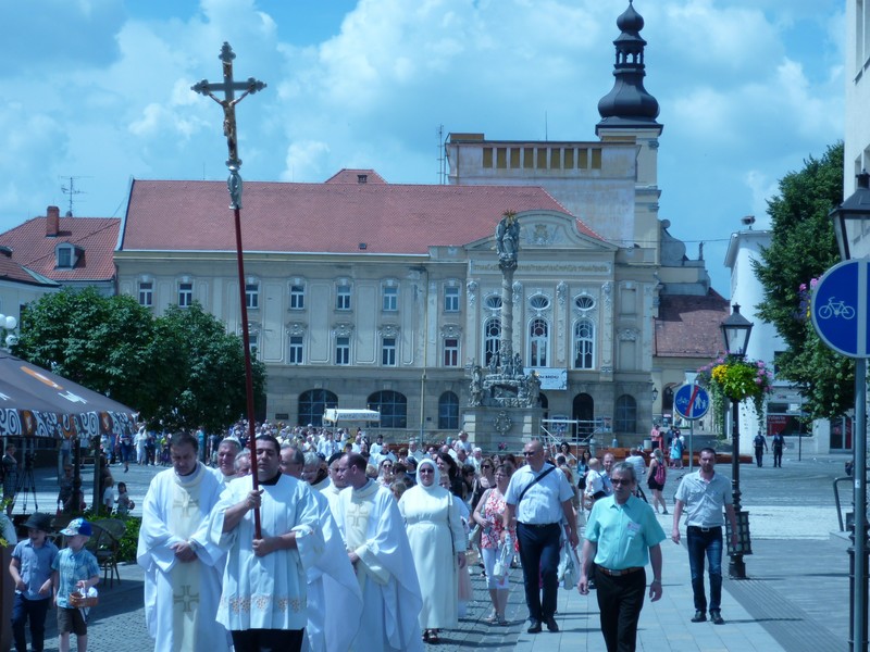
M245 347L245 388L248 404L248 446L251 450L251 482L254 491L259 488L257 477L257 442L254 431L254 411L253 411L253 369L251 367L251 339L248 326L248 303L245 292L245 260L241 248L241 177L238 174L241 167L241 160L238 158L238 140L236 139L236 104L245 99L246 96L265 88L263 82L253 77L248 77L246 82L235 82L233 79L233 60L236 58L233 48L224 41L221 48L221 62L223 64L224 79L220 84L212 84L203 79L190 87L191 90L200 95L210 97L217 102L224 110L224 136L226 136L226 147L229 156L226 166L229 170L229 177L226 180L226 188L229 191L229 208L233 210L236 226L236 261L238 263L238 294L241 306L241 340ZM235 92L243 93L236 98ZM215 95L223 93L223 98ZM256 539L262 538L260 531L260 510L253 511L253 536Z

